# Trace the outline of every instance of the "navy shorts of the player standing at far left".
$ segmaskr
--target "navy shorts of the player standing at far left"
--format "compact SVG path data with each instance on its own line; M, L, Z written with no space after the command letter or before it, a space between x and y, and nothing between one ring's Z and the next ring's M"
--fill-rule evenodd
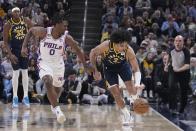
M12 53L18 58L18 63L12 63L13 70L28 69L28 57L22 57L20 50L12 50Z

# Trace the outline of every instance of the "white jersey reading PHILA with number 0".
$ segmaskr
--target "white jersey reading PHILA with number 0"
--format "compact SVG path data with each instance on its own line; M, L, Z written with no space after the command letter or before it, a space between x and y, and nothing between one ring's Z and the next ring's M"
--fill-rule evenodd
M46 37L40 41L38 61L54 64L54 66L64 65L63 54L67 31L60 38L54 39L51 35L52 28L47 28Z

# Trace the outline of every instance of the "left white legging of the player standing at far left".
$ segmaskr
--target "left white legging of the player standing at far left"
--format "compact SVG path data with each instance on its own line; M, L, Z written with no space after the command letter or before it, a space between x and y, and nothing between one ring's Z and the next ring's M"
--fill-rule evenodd
M17 97L18 93L18 77L19 77L19 70L13 71L13 77L12 77L12 86L13 86L13 97Z

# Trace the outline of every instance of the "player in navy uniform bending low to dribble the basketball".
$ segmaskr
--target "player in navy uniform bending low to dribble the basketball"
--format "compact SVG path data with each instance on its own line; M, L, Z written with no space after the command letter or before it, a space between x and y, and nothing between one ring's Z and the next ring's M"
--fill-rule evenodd
M104 41L91 50L90 61L94 67L94 78L101 79L100 72L96 68L96 56L101 55L104 63L104 75L108 88L123 113L123 125L129 125L133 122L130 112L125 107L125 102L121 97L118 75L125 82L126 88L132 99L137 99L137 88L140 85L141 73L133 49L128 45L130 34L124 30L117 30L112 33L110 40ZM132 81L132 72L134 73L135 83Z

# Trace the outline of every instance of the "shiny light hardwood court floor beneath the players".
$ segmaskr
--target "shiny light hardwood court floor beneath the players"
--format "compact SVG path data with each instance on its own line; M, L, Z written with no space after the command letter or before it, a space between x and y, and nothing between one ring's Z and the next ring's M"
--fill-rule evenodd
M132 126L122 126L116 106L62 105L66 122L59 125L49 105L0 105L0 131L179 131L180 128L151 109L143 116L135 115ZM132 113L133 114L133 113Z

